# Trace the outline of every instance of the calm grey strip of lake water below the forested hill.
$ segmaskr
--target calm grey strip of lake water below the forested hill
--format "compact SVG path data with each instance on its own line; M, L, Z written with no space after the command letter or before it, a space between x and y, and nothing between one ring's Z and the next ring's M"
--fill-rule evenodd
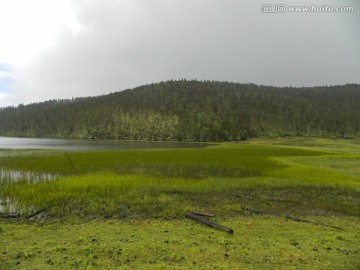
M0 149L130 150L148 148L205 148L206 143L60 140L0 137Z

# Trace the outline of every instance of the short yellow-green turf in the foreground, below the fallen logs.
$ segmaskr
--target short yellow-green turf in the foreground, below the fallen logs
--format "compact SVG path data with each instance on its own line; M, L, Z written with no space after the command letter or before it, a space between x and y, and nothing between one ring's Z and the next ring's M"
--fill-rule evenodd
M344 231L271 216L191 220L0 223L1 269L358 269L360 223Z

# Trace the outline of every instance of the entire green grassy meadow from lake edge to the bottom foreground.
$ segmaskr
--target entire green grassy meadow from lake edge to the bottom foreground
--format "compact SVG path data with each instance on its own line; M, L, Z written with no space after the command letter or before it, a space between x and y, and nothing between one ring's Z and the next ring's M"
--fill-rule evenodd
M359 269L359 168L358 140L319 138L0 150L0 212L20 214L0 269Z

